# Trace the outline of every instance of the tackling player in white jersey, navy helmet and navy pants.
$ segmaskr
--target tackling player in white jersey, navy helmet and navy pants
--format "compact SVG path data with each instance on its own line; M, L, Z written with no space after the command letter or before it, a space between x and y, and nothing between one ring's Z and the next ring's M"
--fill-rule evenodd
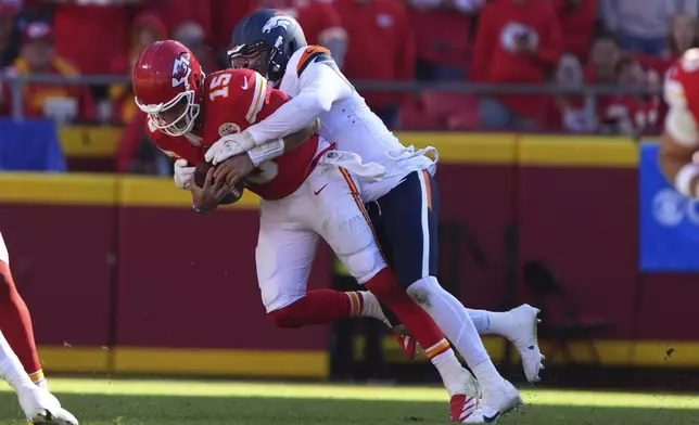
M482 388L478 408L452 412L452 420L493 422L519 407L519 392L499 375L478 331L514 343L528 379L536 382L543 360L535 332L538 310L526 305L505 313L467 310L439 284L439 194L432 178L436 151L415 152L401 144L342 75L328 50L306 46L298 23L282 12L262 10L244 17L233 30L229 60L232 67L265 75L292 100L242 133L216 142L206 159L218 164L320 118L318 133L334 141L338 150L384 166L382 180L360 186L379 242L401 285L452 340ZM428 153L435 159L428 158ZM341 165L343 158L336 159Z

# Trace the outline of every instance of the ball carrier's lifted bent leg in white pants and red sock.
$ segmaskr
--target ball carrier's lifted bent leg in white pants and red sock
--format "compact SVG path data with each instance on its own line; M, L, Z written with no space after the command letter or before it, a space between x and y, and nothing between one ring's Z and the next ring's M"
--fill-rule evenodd
M306 291L319 236L291 217L295 204L294 199L260 204L255 258L268 317L280 327L323 324L350 317L385 320L378 300L369 293Z

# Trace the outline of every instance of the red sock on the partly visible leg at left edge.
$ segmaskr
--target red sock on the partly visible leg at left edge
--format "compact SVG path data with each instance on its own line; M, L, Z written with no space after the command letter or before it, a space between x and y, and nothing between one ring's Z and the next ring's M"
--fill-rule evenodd
M12 280L10 267L0 261L0 330L35 383L43 379L34 342L31 315Z

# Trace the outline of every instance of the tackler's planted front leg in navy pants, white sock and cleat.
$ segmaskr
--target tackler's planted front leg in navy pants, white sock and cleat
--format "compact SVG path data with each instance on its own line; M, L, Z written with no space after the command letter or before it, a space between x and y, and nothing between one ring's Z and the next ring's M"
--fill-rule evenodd
M437 282L439 193L427 171L415 171L371 208L393 248L399 284L434 319L474 373L483 391L479 408L463 422L490 422L520 403L519 394L491 361L466 308ZM371 207L371 205L370 205Z

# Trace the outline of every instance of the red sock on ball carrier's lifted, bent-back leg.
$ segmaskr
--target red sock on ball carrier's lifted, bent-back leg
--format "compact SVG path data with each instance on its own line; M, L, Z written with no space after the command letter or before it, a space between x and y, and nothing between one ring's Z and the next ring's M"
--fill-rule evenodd
M301 327L356 317L359 315L363 307L361 293L314 289L308 291L303 298L294 304L275 310L267 315L279 327Z

